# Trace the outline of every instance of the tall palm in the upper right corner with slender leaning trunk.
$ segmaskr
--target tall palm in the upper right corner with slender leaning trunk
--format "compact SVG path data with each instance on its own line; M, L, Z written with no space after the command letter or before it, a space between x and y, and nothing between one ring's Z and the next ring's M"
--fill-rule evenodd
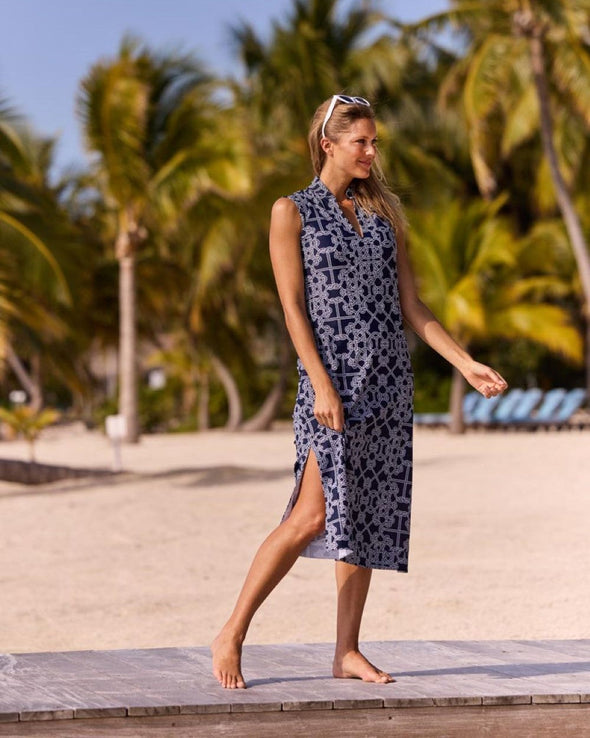
M453 8L422 20L414 30L452 23L468 38L468 52L449 73L461 84L471 157L482 194L497 188L494 162L530 136L538 121L557 204L575 255L585 301L586 371L590 389L590 252L556 147L555 118L590 126L590 39L587 0L455 0ZM510 111L509 115L507 111ZM509 128L506 128L508 126Z

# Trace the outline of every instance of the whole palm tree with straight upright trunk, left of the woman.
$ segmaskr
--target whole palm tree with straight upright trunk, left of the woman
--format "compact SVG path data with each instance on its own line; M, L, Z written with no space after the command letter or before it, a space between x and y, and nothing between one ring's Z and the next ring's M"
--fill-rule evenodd
M183 212L219 187L215 166L227 151L223 137L214 136L212 89L194 58L156 54L130 38L117 58L95 64L81 85L78 110L88 149L97 155L96 185L115 220L119 408L130 442L139 438L136 261L149 243L165 248Z

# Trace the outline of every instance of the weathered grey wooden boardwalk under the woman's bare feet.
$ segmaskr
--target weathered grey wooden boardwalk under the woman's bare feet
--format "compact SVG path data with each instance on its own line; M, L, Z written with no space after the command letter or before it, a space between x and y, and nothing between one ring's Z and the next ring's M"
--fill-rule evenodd
M0 654L0 736L590 736L590 640L363 644L388 685L337 680L331 644Z

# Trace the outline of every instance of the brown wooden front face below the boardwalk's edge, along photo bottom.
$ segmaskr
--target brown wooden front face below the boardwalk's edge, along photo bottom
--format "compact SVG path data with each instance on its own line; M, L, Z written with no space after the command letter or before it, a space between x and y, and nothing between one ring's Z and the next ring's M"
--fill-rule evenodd
M106 718L0 725L11 738L567 738L587 734L589 705L311 710L174 717ZM5 729L10 732L3 732Z

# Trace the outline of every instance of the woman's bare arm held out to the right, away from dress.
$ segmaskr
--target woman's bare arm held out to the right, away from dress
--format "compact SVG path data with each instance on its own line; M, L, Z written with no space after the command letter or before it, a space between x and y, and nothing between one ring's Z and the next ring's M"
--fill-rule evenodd
M503 392L508 386L503 377L464 351L418 297L403 238L398 239L397 266L402 313L412 329L482 395L493 397Z

